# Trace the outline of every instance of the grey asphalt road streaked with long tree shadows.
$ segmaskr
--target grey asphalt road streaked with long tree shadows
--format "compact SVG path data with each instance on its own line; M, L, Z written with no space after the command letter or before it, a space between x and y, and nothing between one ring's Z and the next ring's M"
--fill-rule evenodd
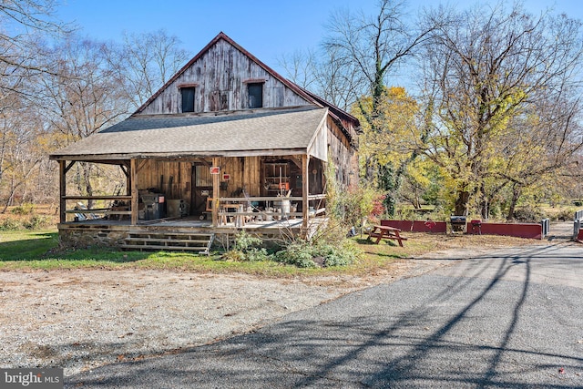
M583 388L583 244L455 261L66 387Z

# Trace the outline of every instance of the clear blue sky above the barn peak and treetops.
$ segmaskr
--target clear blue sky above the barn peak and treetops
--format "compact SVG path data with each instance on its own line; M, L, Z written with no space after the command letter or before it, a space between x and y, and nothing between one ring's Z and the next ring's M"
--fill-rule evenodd
M165 29L170 36L178 36L193 56L223 31L266 65L280 71L281 56L318 46L332 11L349 8L371 14L376 3L376 0L62 0L57 16L64 22L76 23L81 34L100 40L119 41L124 31L145 33ZM438 5L440 1L408 3L415 10L420 5ZM447 3L465 5L467 0ZM557 12L583 19L580 0L526 0L525 5L535 13L554 6Z

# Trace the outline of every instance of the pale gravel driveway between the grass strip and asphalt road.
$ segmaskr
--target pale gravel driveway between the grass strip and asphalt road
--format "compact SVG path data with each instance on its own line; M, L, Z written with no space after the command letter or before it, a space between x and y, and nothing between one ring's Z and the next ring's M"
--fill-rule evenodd
M371 278L260 279L149 270L0 271L0 366L104 363L214 343L447 261L398 261Z

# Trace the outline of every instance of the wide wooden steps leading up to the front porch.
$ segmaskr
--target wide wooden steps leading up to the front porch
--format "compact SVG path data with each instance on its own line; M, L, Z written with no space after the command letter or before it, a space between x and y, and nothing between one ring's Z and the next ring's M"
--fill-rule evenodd
M171 232L171 231L128 231L124 240L124 249L163 250L163 251L197 251L199 254L210 253L214 240L213 233Z

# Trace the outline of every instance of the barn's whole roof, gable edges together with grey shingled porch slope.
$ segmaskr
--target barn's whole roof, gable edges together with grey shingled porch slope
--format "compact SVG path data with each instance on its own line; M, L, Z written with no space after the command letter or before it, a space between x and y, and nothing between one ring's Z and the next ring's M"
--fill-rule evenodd
M309 105L257 110L213 111L147 115L143 111L201 56L224 40L276 78ZM311 154L324 158L322 141L326 118L332 118L353 143L358 119L267 67L229 36L220 33L197 56L126 120L52 153L50 159L115 163L133 158L183 158L251 155ZM313 146L313 147L312 147ZM311 149L313 148L313 150ZM320 151L315 150L321 148ZM319 155L317 155L319 153Z

